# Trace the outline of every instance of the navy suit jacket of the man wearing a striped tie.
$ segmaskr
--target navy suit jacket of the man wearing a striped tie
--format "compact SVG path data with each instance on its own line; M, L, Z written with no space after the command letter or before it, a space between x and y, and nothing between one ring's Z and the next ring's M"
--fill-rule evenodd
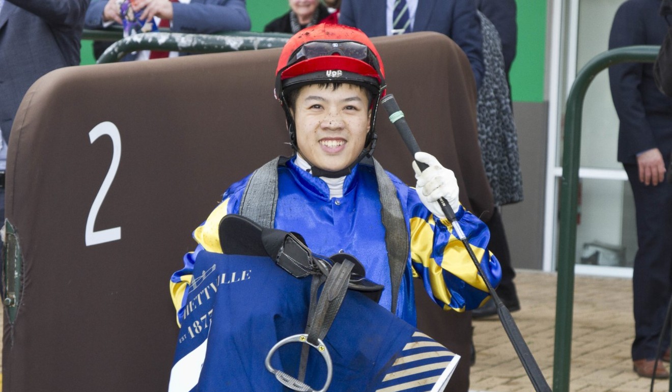
M339 23L356 27L370 37L387 34L386 0L343 0ZM483 75L480 22L473 0L418 0L414 32L446 34L464 51L480 87Z

